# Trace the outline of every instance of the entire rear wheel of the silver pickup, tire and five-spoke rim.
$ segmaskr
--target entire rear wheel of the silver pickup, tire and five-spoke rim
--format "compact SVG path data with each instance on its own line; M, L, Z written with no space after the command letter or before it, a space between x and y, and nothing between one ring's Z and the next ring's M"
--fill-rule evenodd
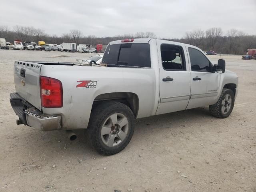
M104 155L122 151L134 133L134 114L120 102L105 102L96 106L89 121L90 141Z

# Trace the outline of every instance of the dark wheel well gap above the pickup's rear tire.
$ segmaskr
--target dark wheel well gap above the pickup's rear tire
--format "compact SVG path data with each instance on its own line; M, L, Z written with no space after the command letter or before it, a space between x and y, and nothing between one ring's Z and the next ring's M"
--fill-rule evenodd
M123 103L132 110L135 118L138 115L139 99L138 99L138 96L134 93L130 93L130 92L104 93L104 94L98 95L94 99L92 107L106 101L118 101L120 103Z

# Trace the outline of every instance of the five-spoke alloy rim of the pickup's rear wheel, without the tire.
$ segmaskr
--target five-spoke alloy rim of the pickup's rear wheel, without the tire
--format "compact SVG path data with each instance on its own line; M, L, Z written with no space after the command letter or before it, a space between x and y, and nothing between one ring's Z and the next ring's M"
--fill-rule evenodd
M101 128L102 142L108 147L117 146L126 139L128 131L127 117L121 113L114 113L106 119Z

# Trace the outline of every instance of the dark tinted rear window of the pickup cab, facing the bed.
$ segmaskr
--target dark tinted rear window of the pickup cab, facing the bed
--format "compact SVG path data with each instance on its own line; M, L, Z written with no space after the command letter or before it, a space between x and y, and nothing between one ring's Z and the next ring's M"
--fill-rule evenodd
M151 67L148 43L121 43L108 45L102 63L110 67Z

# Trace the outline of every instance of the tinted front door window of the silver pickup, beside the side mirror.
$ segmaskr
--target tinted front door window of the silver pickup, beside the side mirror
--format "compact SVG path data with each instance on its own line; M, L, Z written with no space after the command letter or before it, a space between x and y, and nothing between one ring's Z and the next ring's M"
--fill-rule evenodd
M200 52L194 48L188 48L191 70L192 71L202 71L211 72L211 62Z

